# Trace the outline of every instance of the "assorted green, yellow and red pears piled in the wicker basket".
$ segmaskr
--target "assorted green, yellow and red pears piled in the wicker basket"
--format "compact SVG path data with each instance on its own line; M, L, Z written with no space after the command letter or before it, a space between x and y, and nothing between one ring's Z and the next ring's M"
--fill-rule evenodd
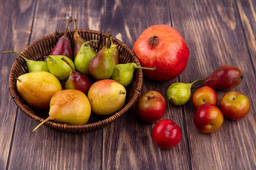
M64 35L45 56L46 61L29 60L14 51L3 52L15 53L27 63L29 73L20 75L16 82L22 98L33 108L49 109L49 117L32 132L49 120L81 125L88 122L91 113L117 113L125 104L126 87L132 82L134 69L142 68L136 63L119 64L119 49L110 31L105 45L96 53L91 44L99 40L85 42L75 20L71 43L67 35L71 22L72 17Z

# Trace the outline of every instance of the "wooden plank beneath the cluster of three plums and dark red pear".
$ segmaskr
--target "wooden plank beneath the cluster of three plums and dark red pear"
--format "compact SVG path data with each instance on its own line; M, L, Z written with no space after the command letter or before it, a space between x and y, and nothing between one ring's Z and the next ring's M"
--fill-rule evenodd
M244 80L232 89L255 101L256 83L239 13L234 1L170 1L173 26L181 31L191 51L181 82L205 78L223 64L240 68ZM192 90L192 94L195 89ZM227 91L217 91L219 101ZM219 103L218 105L219 106ZM255 107L239 121L224 120L211 134L199 132L193 124L191 99L184 105L192 169L240 170L255 168Z

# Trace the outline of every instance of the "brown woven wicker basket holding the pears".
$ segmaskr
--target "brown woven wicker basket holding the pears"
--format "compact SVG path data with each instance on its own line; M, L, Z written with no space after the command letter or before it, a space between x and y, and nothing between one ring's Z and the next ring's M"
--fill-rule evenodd
M85 41L89 41L92 39L99 40L98 44L94 42L91 43L91 46L94 48L96 52L98 52L106 44L106 40L108 38L108 34L106 33L102 33L99 31L92 31L92 30L84 30L84 29L77 30L77 31L79 35L83 39L85 39ZM67 32L71 42L73 42L72 36L74 32L75 30L69 30ZM64 31L56 31L56 33L46 35L43 38L40 38L35 42L33 42L27 48L25 48L21 52L21 55L31 60L42 61L44 60L44 56L49 55L50 51L52 51L52 49L56 45L58 38L61 37L63 34L64 34ZM114 37L112 37L112 40L118 46L120 64L134 62L138 66L140 66L139 60L126 44L124 44L123 42L121 42L120 40ZM38 122L42 122L49 116L48 114L49 110L40 110L40 109L36 109L29 106L29 104L25 102L25 100L22 98L22 96L17 90L16 80L20 75L25 73L28 73L27 64L22 58L17 57L17 60L11 66L11 71L9 74L9 91L11 93L11 97L15 102L15 104L23 113L25 113L31 119L34 119ZM92 79L92 77L90 78ZM95 82L95 80L93 79L92 81ZM71 133L88 132L88 131L103 128L104 126L115 121L115 119L119 118L121 115L126 113L132 107L132 105L136 102L137 98L139 97L141 87L142 87L142 81L143 81L143 75L142 75L141 69L135 69L132 82L126 88L127 93L126 93L126 102L124 104L124 107L121 110L119 110L117 113L114 113L113 115L99 116L92 113L87 124L84 124L84 125L68 125L68 124L58 123L56 121L47 121L45 125L52 127L55 130L60 130L63 132L71 132ZM61 83L63 85L65 84L65 82L61 82Z

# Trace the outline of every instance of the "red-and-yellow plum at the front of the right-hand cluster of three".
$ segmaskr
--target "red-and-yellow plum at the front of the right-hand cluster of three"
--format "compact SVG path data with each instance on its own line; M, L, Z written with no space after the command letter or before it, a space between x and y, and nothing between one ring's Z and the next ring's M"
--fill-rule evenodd
M211 133L222 126L223 114L217 106L203 104L195 110L193 121L200 132Z

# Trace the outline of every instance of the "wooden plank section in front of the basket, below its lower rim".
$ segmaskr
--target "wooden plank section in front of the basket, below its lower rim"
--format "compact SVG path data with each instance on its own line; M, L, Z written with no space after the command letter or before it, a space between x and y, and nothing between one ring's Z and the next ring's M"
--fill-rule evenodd
M26 123L24 123L26 122ZM10 170L99 170L101 130L84 134L42 126L19 111L13 136Z

